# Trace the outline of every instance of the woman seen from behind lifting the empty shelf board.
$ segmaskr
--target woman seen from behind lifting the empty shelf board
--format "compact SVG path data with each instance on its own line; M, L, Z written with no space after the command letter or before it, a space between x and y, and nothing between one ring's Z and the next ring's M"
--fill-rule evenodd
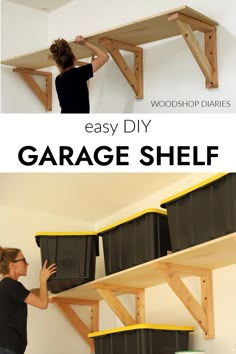
M56 77L56 90L61 113L89 113L87 80L109 59L107 53L89 43L84 37L76 36L75 42L91 50L96 59L91 64L76 67L76 58L64 39L57 39L50 47L60 75Z

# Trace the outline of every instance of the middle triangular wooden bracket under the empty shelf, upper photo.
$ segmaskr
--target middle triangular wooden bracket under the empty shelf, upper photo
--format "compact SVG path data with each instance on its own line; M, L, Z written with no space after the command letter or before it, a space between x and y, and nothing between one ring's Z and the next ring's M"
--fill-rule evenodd
M136 98L143 98L143 49L132 44L109 38L100 38L99 43L105 47L117 64L122 74L133 89ZM120 50L134 54L134 72L130 69Z

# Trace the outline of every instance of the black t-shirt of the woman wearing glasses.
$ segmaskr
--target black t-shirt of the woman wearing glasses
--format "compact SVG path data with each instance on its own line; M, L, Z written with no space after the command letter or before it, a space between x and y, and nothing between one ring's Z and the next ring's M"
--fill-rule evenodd
M0 347L24 353L27 345L27 304L29 295L19 281L0 281Z

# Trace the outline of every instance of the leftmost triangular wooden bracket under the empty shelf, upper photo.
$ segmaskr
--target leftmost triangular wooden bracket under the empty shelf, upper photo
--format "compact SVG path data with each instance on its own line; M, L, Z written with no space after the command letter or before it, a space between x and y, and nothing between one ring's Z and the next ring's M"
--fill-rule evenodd
M38 97L38 99L44 105L46 111L52 110L52 73L39 70L14 68L14 72L21 75L22 79ZM45 92L39 87L39 85L32 78L33 75L45 77Z

